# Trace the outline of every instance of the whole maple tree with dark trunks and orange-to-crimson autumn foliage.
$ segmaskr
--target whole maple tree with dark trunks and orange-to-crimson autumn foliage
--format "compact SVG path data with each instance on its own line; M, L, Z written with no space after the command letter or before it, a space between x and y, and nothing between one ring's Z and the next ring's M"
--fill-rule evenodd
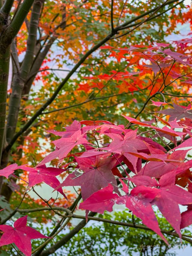
M50 255L89 220L191 243L180 231L191 224L191 32L164 42L179 23L191 25L183 2L0 1L0 245ZM56 198L37 192L42 182ZM114 204L133 223L96 217ZM173 230L160 229L154 205ZM28 236L26 213L54 229ZM53 242L72 218L83 220ZM47 239L31 250L36 238Z

